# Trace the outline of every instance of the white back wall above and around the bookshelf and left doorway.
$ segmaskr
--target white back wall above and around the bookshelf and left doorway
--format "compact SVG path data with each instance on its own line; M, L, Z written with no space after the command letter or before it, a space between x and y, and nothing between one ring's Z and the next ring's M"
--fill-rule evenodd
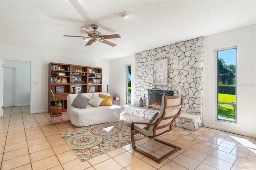
M104 59L79 58L4 45L0 46L0 57L2 59L31 61L31 113L48 111L48 63L50 62L102 67L102 92L106 92L106 85L109 84L109 61Z

